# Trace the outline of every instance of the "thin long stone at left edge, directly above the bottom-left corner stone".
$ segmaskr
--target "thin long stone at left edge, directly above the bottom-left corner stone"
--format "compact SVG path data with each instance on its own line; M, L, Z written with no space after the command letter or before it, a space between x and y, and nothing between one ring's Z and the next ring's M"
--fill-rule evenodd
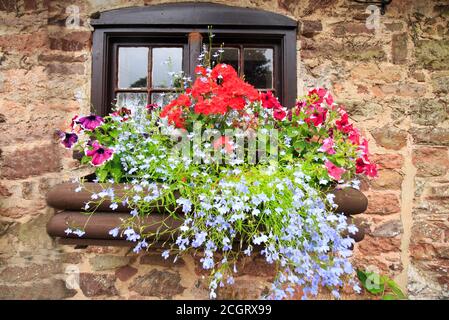
M8 266L0 272L0 282L20 283L46 279L62 274L60 263L31 264L28 266Z

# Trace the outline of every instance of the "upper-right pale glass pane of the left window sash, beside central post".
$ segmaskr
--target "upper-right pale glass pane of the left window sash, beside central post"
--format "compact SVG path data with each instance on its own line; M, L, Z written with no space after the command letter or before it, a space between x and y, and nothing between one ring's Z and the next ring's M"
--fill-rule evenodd
M153 49L153 88L173 88L173 76L182 71L182 48Z

